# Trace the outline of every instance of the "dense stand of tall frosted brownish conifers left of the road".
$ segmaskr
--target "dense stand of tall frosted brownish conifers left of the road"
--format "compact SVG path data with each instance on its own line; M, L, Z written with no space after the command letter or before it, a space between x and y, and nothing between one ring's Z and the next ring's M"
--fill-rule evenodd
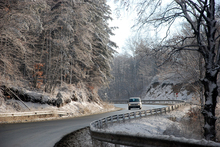
M0 85L97 93L116 47L110 14L106 0L1 0Z

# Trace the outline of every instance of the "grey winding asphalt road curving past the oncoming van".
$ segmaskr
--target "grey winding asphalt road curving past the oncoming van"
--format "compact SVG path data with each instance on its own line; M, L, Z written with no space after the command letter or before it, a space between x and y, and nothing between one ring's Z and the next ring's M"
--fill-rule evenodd
M84 117L60 119L42 122L0 124L0 147L53 147L64 135L89 126L90 122L127 110L126 104L115 104L123 110ZM161 108L161 105L143 105L143 110Z

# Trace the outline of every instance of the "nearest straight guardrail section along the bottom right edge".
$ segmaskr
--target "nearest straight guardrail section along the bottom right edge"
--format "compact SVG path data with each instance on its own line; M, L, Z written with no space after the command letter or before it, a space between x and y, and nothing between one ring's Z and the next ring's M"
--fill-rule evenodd
M93 146L103 147L114 144L115 147L127 145L133 147L218 147L219 143L204 140L185 139L173 136L135 136L127 134L113 134L92 132Z

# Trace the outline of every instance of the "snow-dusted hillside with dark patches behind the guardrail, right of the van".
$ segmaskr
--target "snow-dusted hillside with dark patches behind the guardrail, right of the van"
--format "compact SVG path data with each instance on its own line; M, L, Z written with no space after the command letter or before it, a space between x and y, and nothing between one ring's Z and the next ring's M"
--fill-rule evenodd
M199 104L199 82L185 80L177 73L158 74L142 93L142 97L149 100L177 99Z

